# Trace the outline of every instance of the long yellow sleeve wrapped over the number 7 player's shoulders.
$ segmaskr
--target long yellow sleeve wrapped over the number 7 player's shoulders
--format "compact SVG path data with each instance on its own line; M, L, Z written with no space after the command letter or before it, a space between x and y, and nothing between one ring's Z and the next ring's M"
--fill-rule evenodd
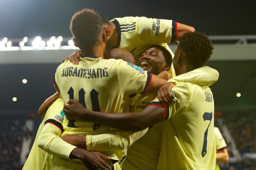
M175 84L179 82L190 82L197 85L212 85L219 78L219 72L211 67L204 66L187 73L176 76L167 82L173 82Z

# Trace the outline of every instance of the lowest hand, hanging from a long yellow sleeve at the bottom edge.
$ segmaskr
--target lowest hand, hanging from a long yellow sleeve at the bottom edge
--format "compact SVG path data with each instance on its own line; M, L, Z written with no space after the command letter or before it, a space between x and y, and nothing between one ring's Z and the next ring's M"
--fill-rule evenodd
M70 159L80 159L88 169L110 170L110 166L104 161L111 159L100 152L88 152L82 148L75 148L69 156Z

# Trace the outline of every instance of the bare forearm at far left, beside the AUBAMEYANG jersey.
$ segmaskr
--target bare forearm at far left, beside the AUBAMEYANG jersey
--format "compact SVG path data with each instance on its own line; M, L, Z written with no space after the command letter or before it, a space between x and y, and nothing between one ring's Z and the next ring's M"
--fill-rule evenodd
M59 98L61 98L60 92L56 92L52 96L50 96L48 99L46 99L44 101L44 103L40 106L40 108L38 109L38 116L44 117L48 108L52 105L52 103L55 100L57 100Z

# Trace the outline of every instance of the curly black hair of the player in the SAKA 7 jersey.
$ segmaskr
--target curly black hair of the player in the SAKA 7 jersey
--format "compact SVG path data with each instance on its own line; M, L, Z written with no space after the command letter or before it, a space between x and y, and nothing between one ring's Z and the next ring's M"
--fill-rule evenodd
M186 53L188 61L195 67L202 67L212 55L212 41L205 33L188 32L179 39L179 47Z

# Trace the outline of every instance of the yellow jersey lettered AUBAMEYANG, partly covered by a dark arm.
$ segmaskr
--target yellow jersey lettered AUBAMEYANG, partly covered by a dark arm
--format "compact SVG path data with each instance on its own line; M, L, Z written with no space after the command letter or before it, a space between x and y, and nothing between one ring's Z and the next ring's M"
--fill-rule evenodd
M89 110L115 113L127 112L129 94L145 91L147 81L148 76L140 67L123 60L106 60L92 55L84 56L78 65L69 61L61 64L55 75L55 83L64 103L75 99ZM92 122L67 119L63 122L63 128L63 135L116 131Z

